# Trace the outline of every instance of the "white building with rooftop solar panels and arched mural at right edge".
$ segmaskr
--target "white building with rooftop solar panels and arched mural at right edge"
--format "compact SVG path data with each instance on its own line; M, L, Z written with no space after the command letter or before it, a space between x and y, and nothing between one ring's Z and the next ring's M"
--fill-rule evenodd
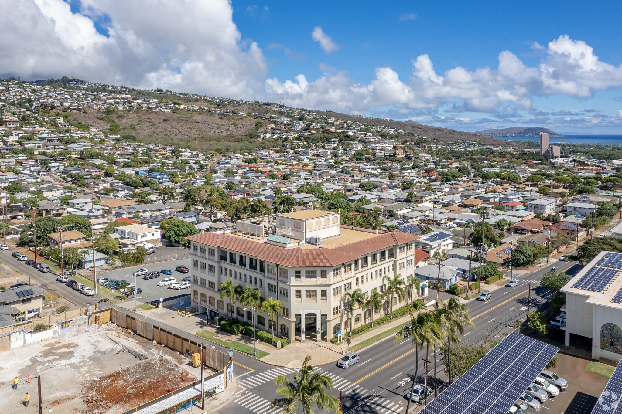
M560 290L566 294L566 323L562 326L566 346L571 336L583 336L592 339L593 359L622 359L622 303L620 296L616 298L622 290L621 268L622 254L600 252ZM598 278L600 286L595 285ZM585 286L590 280L593 284L587 288L574 287L578 282Z

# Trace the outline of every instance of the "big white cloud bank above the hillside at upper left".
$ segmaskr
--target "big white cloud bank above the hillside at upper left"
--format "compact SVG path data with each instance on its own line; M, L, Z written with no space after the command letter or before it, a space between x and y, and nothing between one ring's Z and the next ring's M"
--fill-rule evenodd
M263 89L262 51L241 39L226 0L83 0L80 13L62 0L0 4L0 76L66 75L217 96Z

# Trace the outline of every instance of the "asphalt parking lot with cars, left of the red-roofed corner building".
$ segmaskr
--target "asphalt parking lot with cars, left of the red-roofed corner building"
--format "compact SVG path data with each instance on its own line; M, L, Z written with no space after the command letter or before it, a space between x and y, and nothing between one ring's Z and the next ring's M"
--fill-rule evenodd
M159 247L158 250L162 249ZM178 249L179 250L179 249ZM190 266L190 259L177 259L177 260L167 260L165 262L159 262L154 264L149 264L146 262L142 265L135 267L126 267L124 269L111 270L109 272L97 272L97 278L108 277L110 279L118 279L118 280L127 280L128 283L136 283L136 286L142 289L142 293L138 295L138 300L147 303L151 300L159 300L159 298L169 298L179 295L189 295L190 289L182 289L182 290L174 290L169 287L158 286L157 283L160 282L165 277L174 277L177 282L181 282L183 277L190 275L190 273L182 274L175 270L175 267L179 265ZM149 280L144 280L142 276L136 277L136 282L134 282L134 276L132 276L133 272L136 272L138 269L147 269L149 272L157 270L162 272L164 269L170 269L173 271L172 275L165 275L160 273L159 278L153 278Z

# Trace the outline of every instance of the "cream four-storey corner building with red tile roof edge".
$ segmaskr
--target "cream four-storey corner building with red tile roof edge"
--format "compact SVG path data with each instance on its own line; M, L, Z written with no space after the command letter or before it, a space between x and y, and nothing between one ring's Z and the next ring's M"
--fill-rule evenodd
M267 233L266 233L267 231ZM267 236L266 236L267 234ZM233 282L257 288L262 297L280 300L275 332L292 341L330 341L342 323L343 295L356 288L369 297L384 291L383 277L415 269L413 241L400 232L340 225L339 213L307 209L238 221L232 231L186 237L192 272L192 306L221 315L231 313L230 300L220 300L220 284ZM397 298L393 300L395 308ZM389 312L389 300L376 315ZM234 317L252 323L253 313L236 302ZM371 310L354 310L353 324L371 320ZM259 312L256 323L270 329L273 321Z

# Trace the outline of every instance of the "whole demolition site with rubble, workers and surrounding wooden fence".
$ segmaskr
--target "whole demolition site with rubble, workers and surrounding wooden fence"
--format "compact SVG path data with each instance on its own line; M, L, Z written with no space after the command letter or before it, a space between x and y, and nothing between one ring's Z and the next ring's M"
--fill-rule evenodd
M39 412L39 402L43 410L51 408L58 414L129 410L157 414L169 412L170 405L200 407L202 370L193 344L170 332L157 336L162 343L144 333L141 336L136 325L144 324L142 321L132 319L133 324L126 328L106 321L112 319L111 313L108 309L93 315L92 324L85 323L85 316L76 318L76 324L62 334L0 352L1 412L34 414ZM122 316L118 318L126 318ZM151 335L157 335L159 327L151 329ZM178 350L175 344L188 349ZM208 397L224 391L224 375L216 378L214 367L226 365L226 359L226 354L203 351L204 378L211 375L210 384L216 384L213 390L205 390ZM17 390L12 388L15 377ZM26 392L30 395L28 407L24 404Z

